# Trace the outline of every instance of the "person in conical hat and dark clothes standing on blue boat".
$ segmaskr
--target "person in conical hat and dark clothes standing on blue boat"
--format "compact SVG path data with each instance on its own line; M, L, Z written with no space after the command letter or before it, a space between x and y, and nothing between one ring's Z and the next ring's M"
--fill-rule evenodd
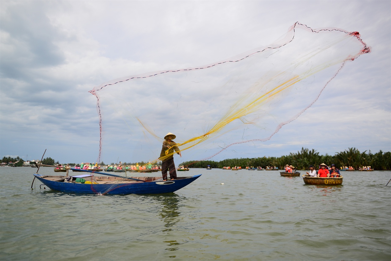
M161 175L163 176L164 181L167 180L167 171L170 171L171 180L176 179L174 150L177 154L179 154L179 156L182 157L181 151L179 150L178 146L174 141L172 141L175 138L176 136L171 132L167 133L167 135L164 137L163 147L161 148L159 159L161 160Z

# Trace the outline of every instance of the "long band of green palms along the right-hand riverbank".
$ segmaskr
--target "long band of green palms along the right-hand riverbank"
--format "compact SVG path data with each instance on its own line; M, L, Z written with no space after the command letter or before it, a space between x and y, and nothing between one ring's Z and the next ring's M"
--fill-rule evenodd
M325 163L330 166L335 164L338 168L343 166L352 166L355 169L359 169L362 166L371 166L376 170L390 170L391 169L391 152L379 151L378 153L366 153L360 152L356 148L349 148L345 151L331 155L319 155L316 150L301 148L301 151L297 153L289 153L289 155L282 157L262 157L262 158L231 158L221 161L204 160L199 162L187 161L179 165L184 165L194 168L206 168L210 165L212 168L222 168L227 166L253 166L263 167L276 166L279 169L283 169L285 164L292 165L296 169L308 169L310 164L319 166L319 164Z

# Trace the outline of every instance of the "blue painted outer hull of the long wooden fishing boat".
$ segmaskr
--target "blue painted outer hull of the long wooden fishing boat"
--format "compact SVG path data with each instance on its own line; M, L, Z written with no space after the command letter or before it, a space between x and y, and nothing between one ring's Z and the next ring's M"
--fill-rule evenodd
M34 174L36 178L48 188L54 191L61 191L66 193L82 193L82 194L113 194L113 195L126 195L126 194L161 194L172 193L181 189L201 175L195 175L192 177L178 177L173 181L155 180L151 182L129 182L118 184L81 184L71 182L59 182L54 180L45 179L46 176Z

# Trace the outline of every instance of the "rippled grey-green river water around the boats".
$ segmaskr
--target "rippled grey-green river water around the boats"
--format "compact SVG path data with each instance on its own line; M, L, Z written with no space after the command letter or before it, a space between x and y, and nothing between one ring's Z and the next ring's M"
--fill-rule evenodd
M190 169L203 175L175 193L95 196L31 189L36 170L0 167L1 260L391 259L391 171L327 187Z

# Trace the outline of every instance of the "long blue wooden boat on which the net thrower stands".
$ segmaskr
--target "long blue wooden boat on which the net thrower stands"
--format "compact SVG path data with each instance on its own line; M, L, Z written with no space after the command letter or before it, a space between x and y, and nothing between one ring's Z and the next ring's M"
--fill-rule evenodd
M172 193L181 189L201 175L178 177L175 180L163 181L161 177L122 177L112 174L94 176L93 174L78 176L48 176L34 174L40 182L54 191L83 194L160 194ZM70 179L70 182L66 182ZM78 180L77 180L78 179ZM85 183L75 183L84 179Z

